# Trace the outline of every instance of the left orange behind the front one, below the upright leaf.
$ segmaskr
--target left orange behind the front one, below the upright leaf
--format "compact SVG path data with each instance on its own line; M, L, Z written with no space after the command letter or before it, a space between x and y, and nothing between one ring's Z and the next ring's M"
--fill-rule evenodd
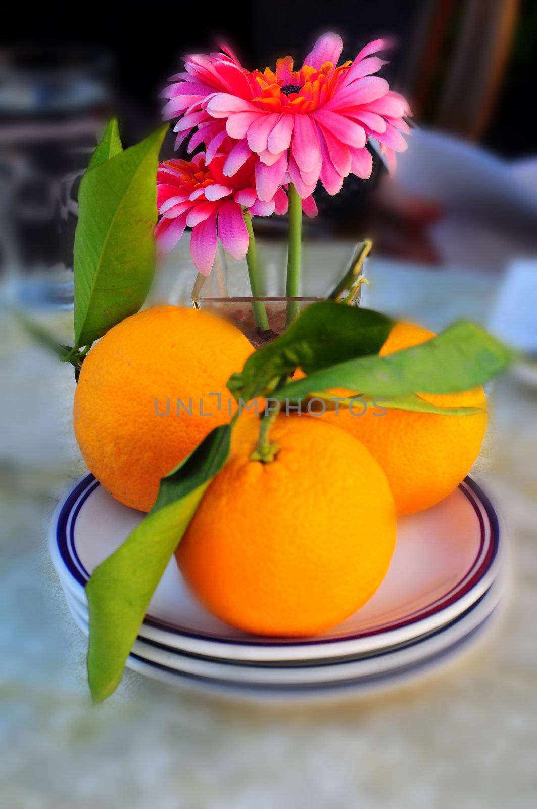
M160 478L229 421L226 381L252 351L235 326L184 307L147 309L111 328L84 360L74 396L87 467L125 506L150 510Z

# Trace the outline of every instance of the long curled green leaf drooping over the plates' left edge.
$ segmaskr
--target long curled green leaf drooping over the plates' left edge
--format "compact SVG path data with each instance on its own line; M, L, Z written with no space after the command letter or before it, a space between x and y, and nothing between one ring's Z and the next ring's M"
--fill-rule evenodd
M226 463L232 423L215 427L182 464L160 481L145 519L87 583L91 695L103 701L115 691L138 629L171 554L180 543L210 481Z

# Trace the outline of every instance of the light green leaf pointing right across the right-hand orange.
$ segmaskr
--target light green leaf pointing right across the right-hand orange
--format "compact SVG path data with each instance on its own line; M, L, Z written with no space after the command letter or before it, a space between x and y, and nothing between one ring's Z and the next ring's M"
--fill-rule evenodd
M336 353L334 352L334 355ZM315 391L347 388L366 396L459 393L492 379L514 353L474 323L461 321L433 339L386 357L362 357L314 371L273 392L278 400L302 399Z

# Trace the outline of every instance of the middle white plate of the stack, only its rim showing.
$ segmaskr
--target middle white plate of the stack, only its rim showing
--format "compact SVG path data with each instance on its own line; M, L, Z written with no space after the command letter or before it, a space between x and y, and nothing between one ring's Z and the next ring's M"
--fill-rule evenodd
M138 640L133 645L137 659L155 663L165 669L179 671L184 675L219 680L227 685L248 684L262 686L311 685L358 680L425 662L466 637L485 621L497 608L503 587L497 579L462 616L434 633L416 638L403 647L379 650L359 659L334 661L321 665L276 667L268 663L245 666L237 663L222 663L181 654L175 650ZM67 605L82 631L89 634L87 609L66 593Z

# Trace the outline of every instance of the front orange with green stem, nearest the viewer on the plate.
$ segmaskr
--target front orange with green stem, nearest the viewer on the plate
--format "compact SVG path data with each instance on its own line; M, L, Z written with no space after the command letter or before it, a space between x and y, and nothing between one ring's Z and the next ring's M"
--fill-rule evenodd
M214 615L250 633L328 629L365 604L395 544L382 469L344 430L280 416L269 464L250 460L260 421L235 426L230 459L206 490L176 551L188 585Z

